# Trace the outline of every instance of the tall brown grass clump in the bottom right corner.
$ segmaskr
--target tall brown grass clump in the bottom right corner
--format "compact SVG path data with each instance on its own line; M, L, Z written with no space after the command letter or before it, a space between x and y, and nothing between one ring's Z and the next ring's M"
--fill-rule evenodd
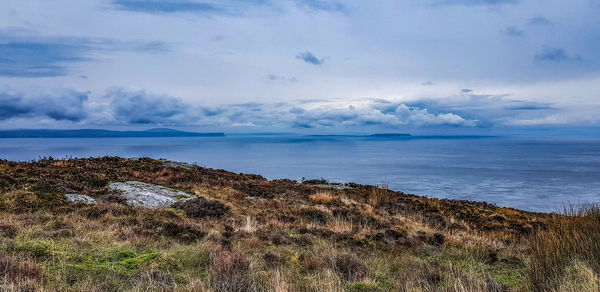
M571 208L531 241L533 291L599 291L600 206Z

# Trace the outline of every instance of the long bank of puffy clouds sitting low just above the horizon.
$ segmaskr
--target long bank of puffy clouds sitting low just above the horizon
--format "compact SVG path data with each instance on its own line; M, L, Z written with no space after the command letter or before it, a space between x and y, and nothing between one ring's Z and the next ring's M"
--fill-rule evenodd
M543 117L558 111L552 104L524 102L509 95L475 94L462 89L454 98L393 102L242 103L191 105L178 98L144 90L112 88L91 101L89 92L73 89L24 95L0 91L0 121L41 120L83 126L166 125L346 129L375 127L492 127L514 120Z

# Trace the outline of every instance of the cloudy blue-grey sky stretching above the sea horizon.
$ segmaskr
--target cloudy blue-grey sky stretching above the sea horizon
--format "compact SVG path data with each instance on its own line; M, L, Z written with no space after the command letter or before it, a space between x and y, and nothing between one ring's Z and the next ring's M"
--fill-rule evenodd
M600 128L599 0L4 0L0 128Z

